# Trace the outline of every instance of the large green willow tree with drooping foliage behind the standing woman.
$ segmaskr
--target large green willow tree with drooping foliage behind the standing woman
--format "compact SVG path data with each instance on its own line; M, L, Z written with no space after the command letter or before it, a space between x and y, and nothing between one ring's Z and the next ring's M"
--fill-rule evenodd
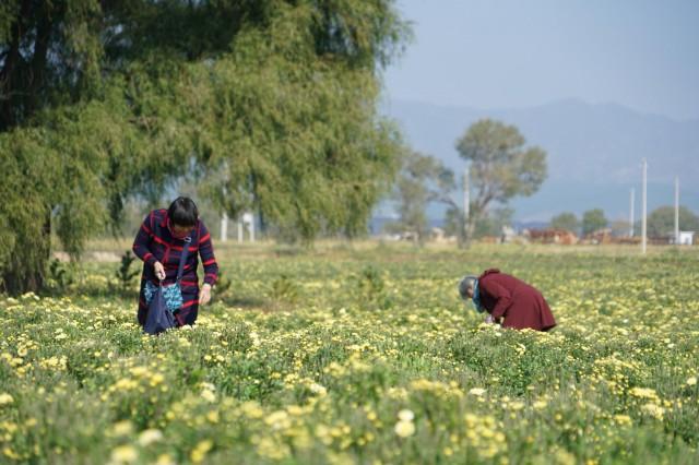
M232 215L362 230L396 170L376 102L406 34L391 0L3 2L4 287L42 287L51 230L78 255L192 171Z

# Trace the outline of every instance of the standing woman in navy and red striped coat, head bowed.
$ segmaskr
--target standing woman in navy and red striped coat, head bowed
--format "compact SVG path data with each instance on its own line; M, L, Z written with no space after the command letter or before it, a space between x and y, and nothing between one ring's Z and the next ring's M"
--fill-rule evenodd
M194 324L199 306L206 305L211 299L211 288L218 277L211 235L204 223L199 219L194 202L180 196L169 208L149 213L133 241L133 253L143 260L138 312L141 326L145 324L149 312L146 283L157 286L159 281L163 285L176 282L179 259L188 238L191 238L191 241L180 281L183 302L180 309L173 313L177 325ZM201 291L197 275L198 254L204 266L204 284Z

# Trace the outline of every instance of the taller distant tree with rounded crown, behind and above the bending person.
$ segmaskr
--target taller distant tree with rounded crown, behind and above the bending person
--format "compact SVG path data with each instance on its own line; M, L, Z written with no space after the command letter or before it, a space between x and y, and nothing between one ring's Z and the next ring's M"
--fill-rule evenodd
M491 202L536 192L546 179L546 152L524 147L525 139L514 126L483 119L473 123L457 141L457 151L471 163L470 178L475 192L466 226L466 239Z

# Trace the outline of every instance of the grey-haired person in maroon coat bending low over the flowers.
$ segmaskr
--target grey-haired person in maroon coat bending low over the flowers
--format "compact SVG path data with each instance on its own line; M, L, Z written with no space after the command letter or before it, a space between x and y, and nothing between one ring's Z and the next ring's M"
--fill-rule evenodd
M487 311L486 321L501 321L503 327L548 331L556 325L542 293L497 269L486 270L478 277L464 276L459 294L463 300L471 299L478 312Z

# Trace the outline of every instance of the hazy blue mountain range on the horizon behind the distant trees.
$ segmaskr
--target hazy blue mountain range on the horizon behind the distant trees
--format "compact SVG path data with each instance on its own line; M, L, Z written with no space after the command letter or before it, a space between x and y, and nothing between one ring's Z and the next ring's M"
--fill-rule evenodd
M649 163L649 211L674 202L699 211L699 120L677 121L614 105L567 99L531 108L479 110L392 100L383 112L402 128L415 150L442 159L461 172L454 143L471 123L494 118L517 126L528 145L547 154L548 178L529 199L512 202L516 217L547 220L552 215L601 207L611 219L627 217L636 188L636 218L641 207L641 159ZM441 216L433 208L430 216Z

